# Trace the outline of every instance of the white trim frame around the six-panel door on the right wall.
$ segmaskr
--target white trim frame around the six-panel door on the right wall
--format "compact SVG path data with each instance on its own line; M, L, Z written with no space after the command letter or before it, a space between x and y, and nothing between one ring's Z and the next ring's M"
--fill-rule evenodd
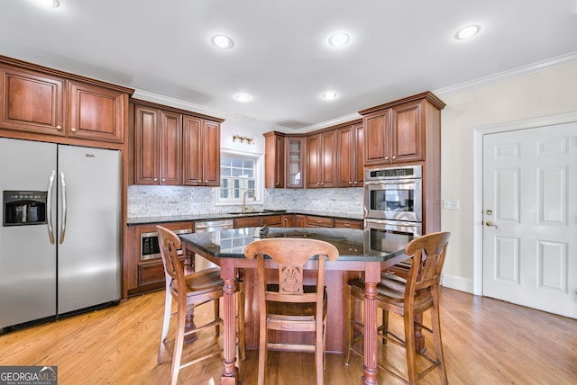
M473 173L473 237L472 237L472 293L483 294L483 136L513 130L536 129L555 124L577 121L577 112L545 116L525 121L510 121L502 124L480 127L472 131L472 173Z

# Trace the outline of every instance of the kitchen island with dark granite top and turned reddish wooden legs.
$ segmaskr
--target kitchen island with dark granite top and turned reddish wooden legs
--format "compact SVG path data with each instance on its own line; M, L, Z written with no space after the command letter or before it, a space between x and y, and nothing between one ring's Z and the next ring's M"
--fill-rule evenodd
M267 230L266 235L261 231ZM244 246L260 237L307 237L325 240L336 246L339 258L325 265L328 292L326 350L345 351L345 303L347 282L363 277L365 281L364 378L376 383L377 373L377 306L376 285L380 271L405 259L408 240L398 237L371 239L369 233L351 228L234 228L211 233L183 234L185 255L197 254L221 268L224 280L224 372L221 383L238 383L235 363L234 279L237 273L246 282L245 334L249 348L258 346L258 302L253 293L255 260L244 257ZM312 263L311 263L312 264ZM272 261L270 267L273 268ZM279 339L294 336L276 336ZM302 336L307 338L307 336Z

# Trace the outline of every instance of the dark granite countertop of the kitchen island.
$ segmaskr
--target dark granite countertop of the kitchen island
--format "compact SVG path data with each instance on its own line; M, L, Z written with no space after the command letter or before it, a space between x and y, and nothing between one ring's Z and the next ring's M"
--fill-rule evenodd
M244 246L261 238L262 228L234 228L215 232L182 234L180 239L216 258L244 258ZM369 233L353 228L267 228L265 237L320 239L336 246L340 260L386 261L404 254L407 243L398 238L372 241Z

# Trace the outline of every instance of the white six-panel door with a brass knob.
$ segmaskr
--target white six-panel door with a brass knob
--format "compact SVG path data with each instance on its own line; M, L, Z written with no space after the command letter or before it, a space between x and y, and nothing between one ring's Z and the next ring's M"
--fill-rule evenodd
M577 318L577 123L483 136L483 295Z

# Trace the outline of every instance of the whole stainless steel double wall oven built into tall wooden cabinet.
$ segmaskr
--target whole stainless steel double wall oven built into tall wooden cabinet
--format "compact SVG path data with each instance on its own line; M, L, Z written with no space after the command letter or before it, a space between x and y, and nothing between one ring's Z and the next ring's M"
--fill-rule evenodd
M372 251L398 250L423 234L422 179L419 165L365 170L365 242Z

